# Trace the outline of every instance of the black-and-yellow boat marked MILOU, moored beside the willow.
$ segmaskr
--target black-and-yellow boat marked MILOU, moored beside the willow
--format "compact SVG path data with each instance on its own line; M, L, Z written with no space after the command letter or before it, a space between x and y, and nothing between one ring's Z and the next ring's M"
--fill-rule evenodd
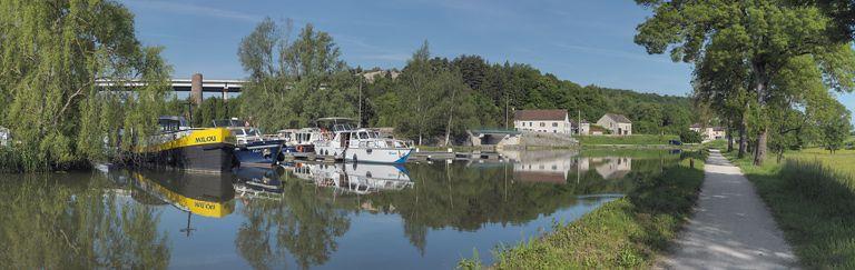
M224 128L194 129L180 117L160 117L160 131L136 152L147 162L203 172L225 172L235 164L235 138Z

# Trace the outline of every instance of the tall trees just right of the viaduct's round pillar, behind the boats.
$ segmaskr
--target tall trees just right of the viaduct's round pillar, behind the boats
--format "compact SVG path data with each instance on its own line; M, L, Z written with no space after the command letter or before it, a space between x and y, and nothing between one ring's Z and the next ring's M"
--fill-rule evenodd
M333 38L311 23L296 37L291 28L291 21L281 26L266 18L242 40L237 54L250 82L240 114L264 130L355 116L358 80L340 60Z

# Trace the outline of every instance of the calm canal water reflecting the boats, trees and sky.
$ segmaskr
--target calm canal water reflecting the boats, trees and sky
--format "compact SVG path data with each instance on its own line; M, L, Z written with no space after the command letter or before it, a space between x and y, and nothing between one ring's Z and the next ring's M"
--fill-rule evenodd
M668 152L510 162L291 163L224 176L0 174L0 263L56 268L449 269L661 172Z

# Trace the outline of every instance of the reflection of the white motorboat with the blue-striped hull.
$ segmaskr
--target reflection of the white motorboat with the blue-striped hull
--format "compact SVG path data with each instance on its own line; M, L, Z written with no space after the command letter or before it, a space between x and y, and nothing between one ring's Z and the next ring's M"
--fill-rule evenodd
M368 194L413 187L409 172L402 166L298 162L286 168L299 179L312 181L318 187L333 188L341 193Z

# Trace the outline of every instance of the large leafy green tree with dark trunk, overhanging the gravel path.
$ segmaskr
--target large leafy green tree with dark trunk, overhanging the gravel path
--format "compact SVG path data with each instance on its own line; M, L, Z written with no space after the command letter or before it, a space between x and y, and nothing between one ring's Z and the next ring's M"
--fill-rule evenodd
M789 132L775 134L780 129L774 127L779 123L774 113L803 109L803 119L810 119L836 102L828 98L829 89L848 92L855 87L851 40L839 39L829 12L816 4L637 2L653 16L638 27L636 43L649 53L670 50L675 61L695 63L696 96L756 141L757 163L765 160L767 142L779 140L773 151L792 144Z

